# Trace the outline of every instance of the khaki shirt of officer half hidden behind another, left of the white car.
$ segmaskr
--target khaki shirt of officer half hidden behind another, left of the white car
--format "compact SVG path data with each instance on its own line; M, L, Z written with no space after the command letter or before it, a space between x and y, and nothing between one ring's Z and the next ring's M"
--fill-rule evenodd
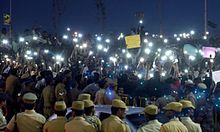
M98 117L96 117L96 116L85 116L85 120L96 129L96 132L101 131L101 124L102 123L101 123L101 121L99 120Z

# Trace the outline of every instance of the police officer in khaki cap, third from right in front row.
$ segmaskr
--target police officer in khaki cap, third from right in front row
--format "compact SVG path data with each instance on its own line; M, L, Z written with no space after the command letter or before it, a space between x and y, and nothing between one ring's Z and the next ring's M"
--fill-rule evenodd
M137 132L159 132L162 123L156 119L158 107L156 105L148 105L145 107L144 113L148 122L140 127Z

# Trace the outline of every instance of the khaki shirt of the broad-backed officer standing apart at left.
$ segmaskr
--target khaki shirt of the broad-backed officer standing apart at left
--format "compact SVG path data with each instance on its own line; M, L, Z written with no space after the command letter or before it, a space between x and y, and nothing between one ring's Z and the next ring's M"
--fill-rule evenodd
M14 130L14 122L15 116L7 125L10 131ZM34 110L25 110L25 112L17 114L16 122L19 132L41 132L46 119Z

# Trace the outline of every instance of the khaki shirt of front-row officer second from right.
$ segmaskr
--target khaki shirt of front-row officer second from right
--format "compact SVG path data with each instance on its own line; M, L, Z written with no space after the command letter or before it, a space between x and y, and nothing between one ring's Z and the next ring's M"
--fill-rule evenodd
M178 118L173 118L161 126L160 132L188 132L188 130Z

